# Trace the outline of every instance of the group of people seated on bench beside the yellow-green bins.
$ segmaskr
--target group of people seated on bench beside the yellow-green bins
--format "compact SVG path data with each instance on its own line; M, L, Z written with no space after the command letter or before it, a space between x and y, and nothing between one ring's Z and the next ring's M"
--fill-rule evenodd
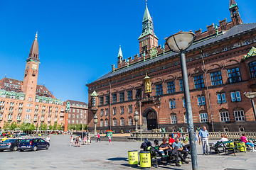
M179 137L175 137L174 140L173 136L170 134L168 141L166 137L163 137L161 145L159 145L159 140L154 140L154 145L154 149L159 148L156 152L159 154L162 160L164 159L164 155L167 155L169 160L171 160L171 157L175 158L176 166L181 166L179 161L180 159L181 162L188 164L188 161L186 160L188 151L183 148ZM144 150L151 148L151 142L145 138L141 148Z

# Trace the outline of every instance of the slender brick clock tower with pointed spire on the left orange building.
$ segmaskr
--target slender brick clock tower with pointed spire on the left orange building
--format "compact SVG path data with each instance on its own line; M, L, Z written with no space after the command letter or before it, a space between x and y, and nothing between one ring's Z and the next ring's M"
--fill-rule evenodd
M38 80L38 67L39 61L39 49L38 49L38 34L36 33L36 38L33 40L31 50L26 60L26 69L23 79L23 91L26 93L25 100L35 100L36 97L36 85Z

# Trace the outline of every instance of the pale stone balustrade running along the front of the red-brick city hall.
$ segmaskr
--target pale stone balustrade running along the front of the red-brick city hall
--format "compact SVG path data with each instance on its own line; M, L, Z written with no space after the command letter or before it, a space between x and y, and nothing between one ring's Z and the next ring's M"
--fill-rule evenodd
M161 139L162 137L168 138L169 134L172 132L142 132L142 138L149 138L149 139ZM227 135L228 139L240 139L243 132L209 132L210 140L218 140L220 139L221 134ZM256 132L245 132L248 139L256 139ZM188 132L180 132L181 137L183 135L188 134ZM140 138L140 132L132 132L131 137L132 139Z

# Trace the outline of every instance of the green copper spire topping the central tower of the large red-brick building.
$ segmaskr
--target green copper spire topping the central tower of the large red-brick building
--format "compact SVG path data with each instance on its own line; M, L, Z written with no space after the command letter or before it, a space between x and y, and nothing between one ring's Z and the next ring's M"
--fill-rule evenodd
M143 20L142 20L142 34L139 36L139 38L142 38L149 34L153 35L153 22L149 14L149 9L147 8L147 2L146 2L146 9L145 9ZM156 37L156 35L154 36Z

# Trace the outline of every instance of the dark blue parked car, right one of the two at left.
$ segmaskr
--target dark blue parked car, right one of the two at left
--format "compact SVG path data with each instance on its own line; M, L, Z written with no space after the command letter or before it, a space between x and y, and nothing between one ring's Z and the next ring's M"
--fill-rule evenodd
M18 149L20 151L23 150L33 150L36 151L37 149L49 149L50 143L46 142L41 138L33 138L33 139L24 139L18 145Z

